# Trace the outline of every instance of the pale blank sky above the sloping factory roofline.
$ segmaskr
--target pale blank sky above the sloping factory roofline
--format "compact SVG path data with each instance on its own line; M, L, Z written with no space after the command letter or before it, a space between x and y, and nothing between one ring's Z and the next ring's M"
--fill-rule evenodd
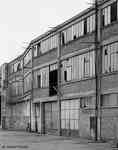
M37 36L70 19L91 0L0 0L0 65L21 55Z

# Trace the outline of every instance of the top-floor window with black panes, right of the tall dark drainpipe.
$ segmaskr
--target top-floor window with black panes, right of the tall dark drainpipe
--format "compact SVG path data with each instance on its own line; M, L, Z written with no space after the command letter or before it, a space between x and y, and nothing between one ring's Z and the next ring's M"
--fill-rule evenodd
M117 20L118 17L118 2L114 1L111 5L102 10L102 25L107 26Z

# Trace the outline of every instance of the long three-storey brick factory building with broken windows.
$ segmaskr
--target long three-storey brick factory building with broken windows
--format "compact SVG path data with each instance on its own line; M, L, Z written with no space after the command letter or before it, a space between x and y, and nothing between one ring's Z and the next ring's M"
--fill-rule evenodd
M118 1L97 8L97 18L92 6L32 40L8 63L7 128L118 135Z

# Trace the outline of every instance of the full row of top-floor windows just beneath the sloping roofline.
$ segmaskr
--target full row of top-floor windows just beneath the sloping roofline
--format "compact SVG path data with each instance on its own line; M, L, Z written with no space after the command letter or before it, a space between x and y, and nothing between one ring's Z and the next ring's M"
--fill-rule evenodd
M102 10L102 26L107 26L118 19L118 1L115 0L113 3ZM95 14L81 20L80 22L65 29L62 36L62 45L69 41L75 40L76 38L91 33L95 30ZM58 46L58 36L54 35L50 38L41 41L33 48L33 55L37 57L40 53L45 53L50 49ZM24 57L24 65L31 60L31 51ZM11 66L11 73L16 72L21 68L20 64L14 64Z

